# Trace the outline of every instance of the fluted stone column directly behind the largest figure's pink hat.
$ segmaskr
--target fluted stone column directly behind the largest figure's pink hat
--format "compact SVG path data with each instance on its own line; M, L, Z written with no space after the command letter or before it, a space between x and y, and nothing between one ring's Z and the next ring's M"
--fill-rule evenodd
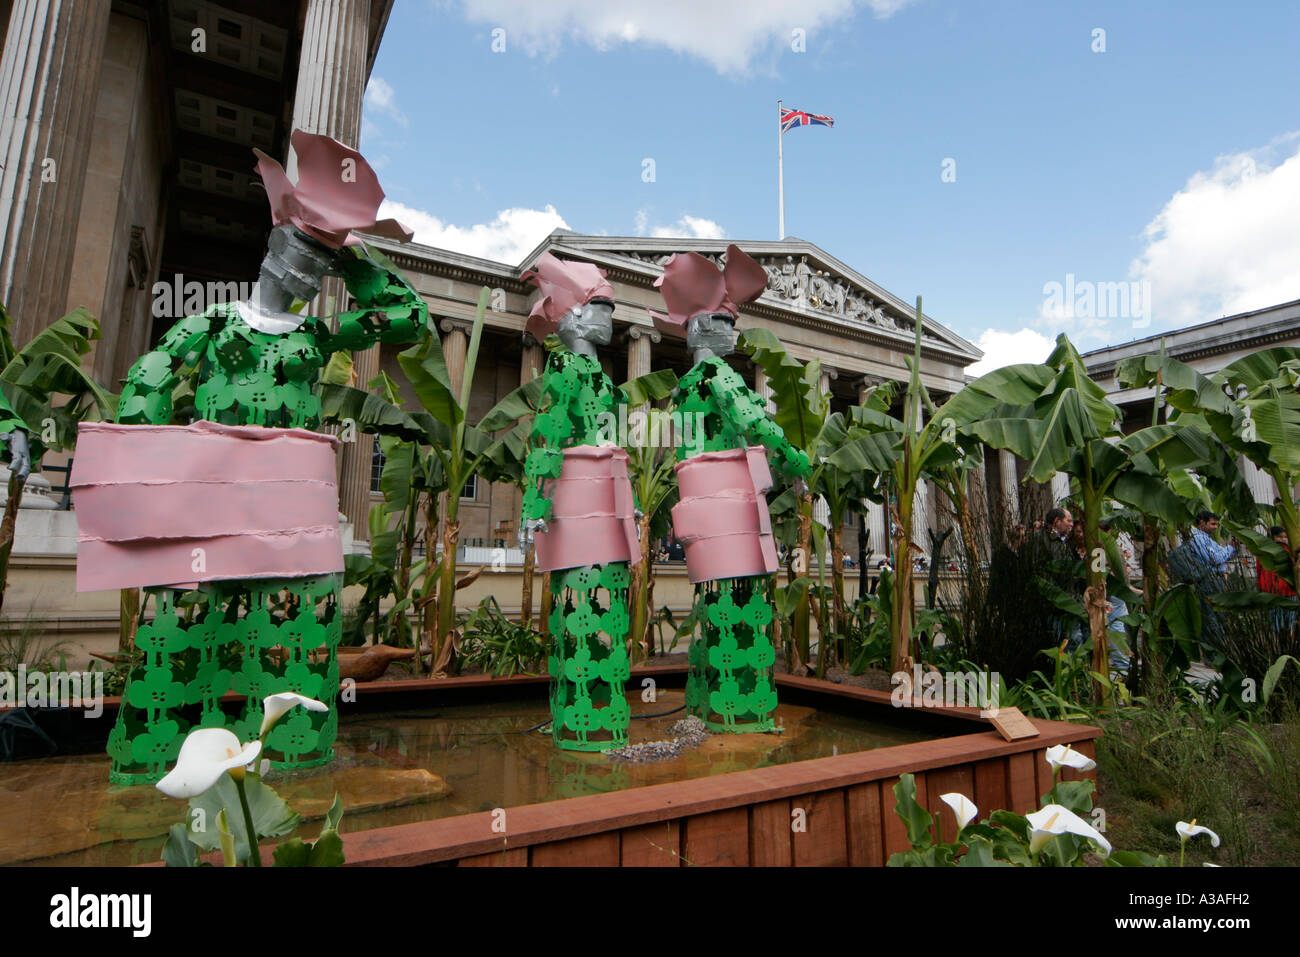
M291 130L322 133L356 148L361 133L361 99L365 95L365 57L370 36L370 0L308 0L303 20L303 47L298 59ZM298 156L292 150L285 163L290 179L298 179ZM334 316L348 307L343 281L329 277L316 302L313 316ZM337 328L337 322L330 320ZM356 387L365 389L380 372L380 347L352 354ZM356 434L343 446L338 484L339 510L352 523L354 537L369 538L370 460L374 437Z

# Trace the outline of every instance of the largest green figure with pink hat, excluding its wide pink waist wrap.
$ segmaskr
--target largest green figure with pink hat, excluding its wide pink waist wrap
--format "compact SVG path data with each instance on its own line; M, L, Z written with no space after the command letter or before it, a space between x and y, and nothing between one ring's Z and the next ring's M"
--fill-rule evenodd
M420 295L387 260L351 237L358 230L411 238L393 220L376 221L384 194L370 166L328 137L295 131L292 146L296 185L278 163L257 153L276 226L252 295L178 321L131 367L118 423L170 424L173 393L198 369L196 419L318 430L316 385L334 351L411 342L426 324ZM341 177L348 168L352 176ZM312 300L326 274L341 276L356 300L356 308L338 316L338 332L292 308ZM247 696L231 727L239 740L259 736L266 694L296 692L330 705L321 713L295 709L272 729L264 752L283 767L329 762L338 728L332 705L339 687L341 588L338 573L208 580L186 607L181 590L150 588L155 616L136 633L144 661L130 677L109 737L110 780L159 780L187 731L179 709L198 706L196 727L228 727L220 706L228 692ZM326 654L317 661L312 653L322 646Z

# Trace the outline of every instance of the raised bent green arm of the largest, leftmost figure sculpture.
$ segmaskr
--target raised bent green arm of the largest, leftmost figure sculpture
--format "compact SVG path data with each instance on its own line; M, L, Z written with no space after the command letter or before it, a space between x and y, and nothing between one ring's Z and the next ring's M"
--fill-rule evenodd
M326 352L415 342L429 321L429 306L396 267L364 246L344 246L337 268L358 308L339 313L338 332L326 338Z

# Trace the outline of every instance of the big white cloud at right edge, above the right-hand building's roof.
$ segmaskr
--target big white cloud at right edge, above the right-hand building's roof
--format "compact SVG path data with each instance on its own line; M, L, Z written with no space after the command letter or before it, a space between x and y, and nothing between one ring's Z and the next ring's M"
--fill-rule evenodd
M1280 161L1279 161L1280 160ZM1219 156L1144 230L1130 267L1154 319L1187 325L1300 298L1300 131Z

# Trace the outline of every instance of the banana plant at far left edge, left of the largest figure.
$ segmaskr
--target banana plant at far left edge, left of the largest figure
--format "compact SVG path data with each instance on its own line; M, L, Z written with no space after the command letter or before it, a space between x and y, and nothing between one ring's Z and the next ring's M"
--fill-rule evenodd
M22 348L9 335L9 313L0 306L0 391L30 436L32 468L51 449L77 443L77 423L112 421L117 395L82 368L91 342L100 338L99 322L84 308L55 320ZM56 398L64 400L56 403ZM9 580L9 555L22 503L23 478L9 476L9 501L0 520L0 607Z

